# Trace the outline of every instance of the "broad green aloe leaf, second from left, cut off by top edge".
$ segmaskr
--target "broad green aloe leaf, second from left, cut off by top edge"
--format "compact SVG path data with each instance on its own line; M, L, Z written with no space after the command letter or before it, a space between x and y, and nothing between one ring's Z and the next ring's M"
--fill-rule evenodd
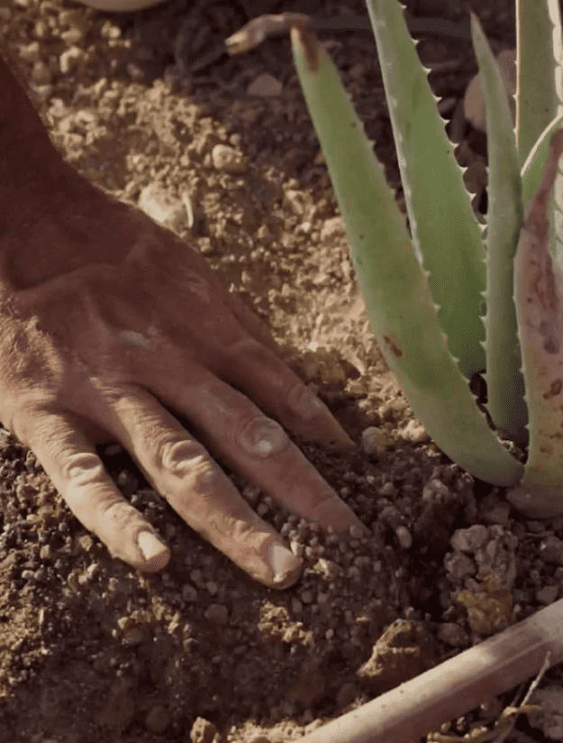
M485 368L481 231L401 5L368 0L413 241L461 372Z

